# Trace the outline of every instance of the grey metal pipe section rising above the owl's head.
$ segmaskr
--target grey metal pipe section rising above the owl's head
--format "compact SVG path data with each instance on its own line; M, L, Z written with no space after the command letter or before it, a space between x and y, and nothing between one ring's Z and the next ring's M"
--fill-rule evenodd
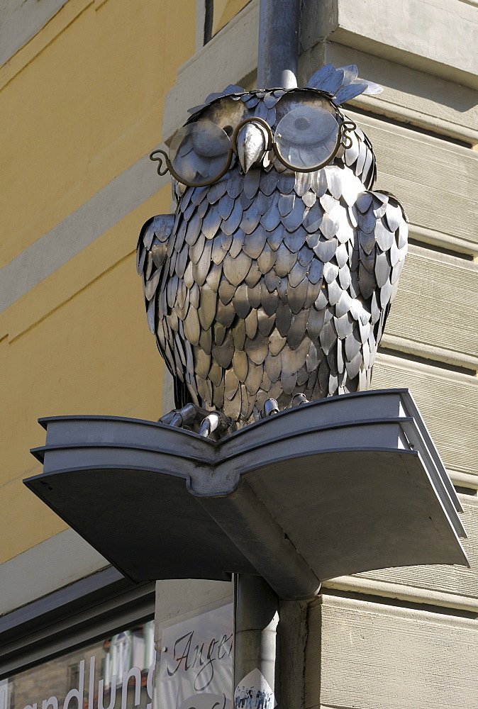
M301 0L260 0L257 89L294 89Z

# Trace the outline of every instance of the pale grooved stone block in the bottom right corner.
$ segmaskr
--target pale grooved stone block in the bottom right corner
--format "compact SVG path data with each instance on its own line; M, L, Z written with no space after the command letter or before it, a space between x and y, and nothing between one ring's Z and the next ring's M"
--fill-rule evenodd
M324 594L309 609L306 709L476 709L472 618Z

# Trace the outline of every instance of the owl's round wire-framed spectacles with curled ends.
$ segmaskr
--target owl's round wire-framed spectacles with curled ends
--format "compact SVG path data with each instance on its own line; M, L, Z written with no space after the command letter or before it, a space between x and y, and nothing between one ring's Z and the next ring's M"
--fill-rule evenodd
M349 133L357 127L352 121L339 121L330 111L317 106L299 106L286 113L274 135L269 124L256 116L241 121L230 136L217 123L199 120L178 130L169 155L164 150L154 150L150 159L158 162L158 174L169 171L187 186L213 184L226 174L234 155L238 155L238 135L248 123L262 128L265 154L272 151L294 172L315 172L324 167L340 146L347 149L352 145Z

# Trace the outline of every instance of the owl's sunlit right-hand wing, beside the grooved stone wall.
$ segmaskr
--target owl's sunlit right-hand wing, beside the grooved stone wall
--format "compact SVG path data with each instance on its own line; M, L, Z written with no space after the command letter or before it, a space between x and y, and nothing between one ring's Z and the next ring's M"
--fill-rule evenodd
M382 337L390 303L399 286L408 246L406 214L389 192L366 191L355 202L357 218L357 287L370 311L375 344Z

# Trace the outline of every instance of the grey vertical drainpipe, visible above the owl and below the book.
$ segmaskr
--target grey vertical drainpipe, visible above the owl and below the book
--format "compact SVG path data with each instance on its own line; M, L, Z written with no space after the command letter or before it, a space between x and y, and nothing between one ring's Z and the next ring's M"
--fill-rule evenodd
M294 89L301 0L260 0L258 89ZM279 598L260 576L235 577L234 687L258 669L278 701ZM246 687L247 689L248 687ZM252 706L255 706L255 693ZM233 703L234 707L234 703Z

